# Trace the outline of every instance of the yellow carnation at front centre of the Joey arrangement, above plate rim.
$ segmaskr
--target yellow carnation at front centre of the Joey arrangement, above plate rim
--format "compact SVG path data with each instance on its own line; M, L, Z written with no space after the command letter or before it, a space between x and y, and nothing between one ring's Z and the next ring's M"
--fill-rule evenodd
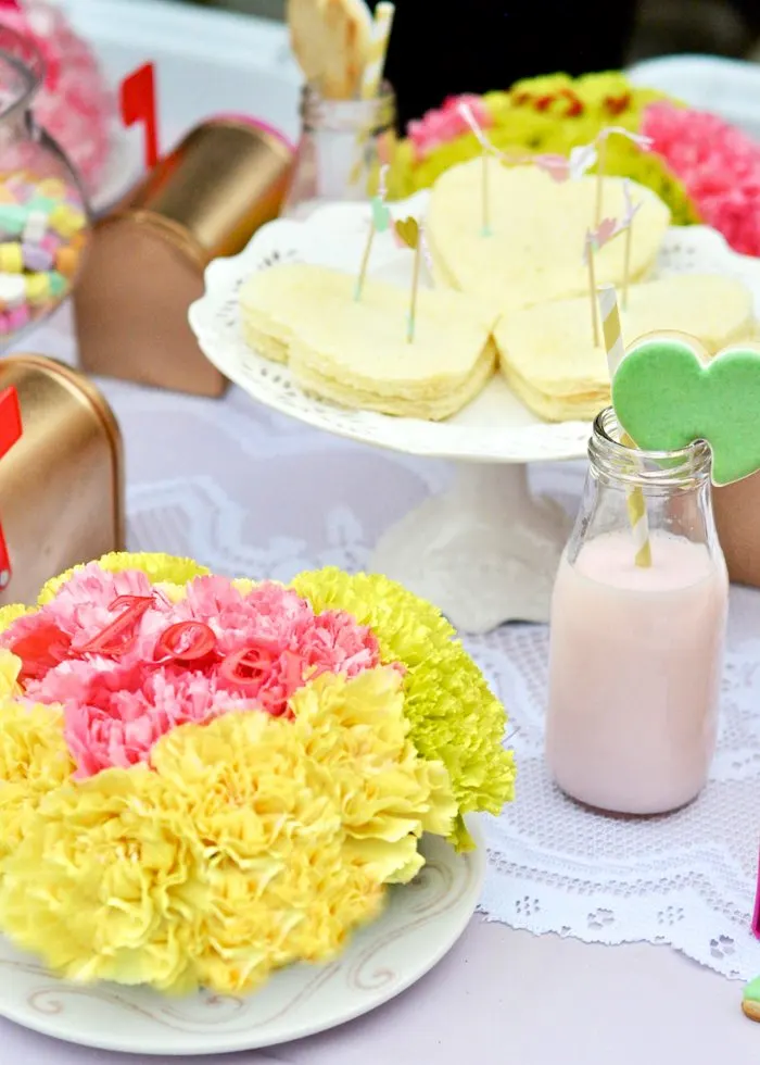
M329 775L303 730L263 713L189 725L153 750L204 841L210 905L199 980L251 990L274 967L327 961L375 917L383 885L347 848Z

